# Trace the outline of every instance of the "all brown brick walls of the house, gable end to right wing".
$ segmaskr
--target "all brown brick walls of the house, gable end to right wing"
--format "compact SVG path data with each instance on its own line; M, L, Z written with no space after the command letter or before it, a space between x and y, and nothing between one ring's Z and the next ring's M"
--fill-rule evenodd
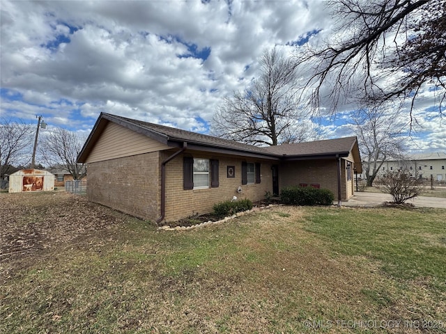
M88 164L89 186L87 196L92 202L113 207L140 218L155 221L160 216L160 164L173 151L151 152L132 157L111 159ZM205 214L213 210L213 205L233 196L257 201L265 198L266 191L272 192L272 164L252 158L222 157L203 152L187 152L187 156L219 160L219 180L217 188L183 190L183 154L169 161L166 166L166 213L165 221ZM242 185L242 161L261 164L261 183ZM346 166L342 160L342 198L353 193L353 177L346 181ZM227 177L227 166L235 166L236 175ZM337 197L337 161L314 160L293 161L279 165L279 188L318 183L321 188L333 191ZM242 193L237 193L238 187ZM346 186L348 188L346 189ZM347 191L347 192L346 192Z

